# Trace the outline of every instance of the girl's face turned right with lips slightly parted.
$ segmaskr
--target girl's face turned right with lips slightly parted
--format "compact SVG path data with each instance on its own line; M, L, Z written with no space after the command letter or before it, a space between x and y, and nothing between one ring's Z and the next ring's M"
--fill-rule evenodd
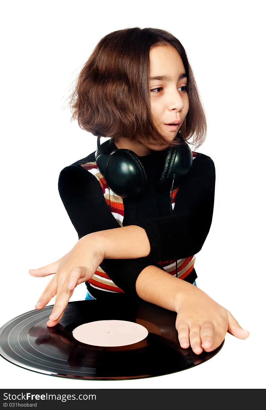
M153 78L165 76L166 78ZM168 44L150 50L150 101L152 116L158 130L173 141L189 110L186 73L177 50ZM175 130L166 124L180 121ZM152 150L167 147L147 145Z

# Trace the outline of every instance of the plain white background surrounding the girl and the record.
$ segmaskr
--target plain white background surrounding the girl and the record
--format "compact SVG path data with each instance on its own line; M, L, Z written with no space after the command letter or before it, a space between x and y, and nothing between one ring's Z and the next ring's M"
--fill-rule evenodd
M171 32L187 52L208 121L198 152L216 166L214 216L196 256L197 284L250 331L246 340L227 333L222 350L202 365L140 380L63 379L0 358L2 388L265 387L262 4L46 0L2 6L0 326L34 309L51 279L33 278L28 270L59 259L78 240L58 176L94 151L96 140L70 123L67 99L98 41L137 26ZM85 294L81 284L70 301Z

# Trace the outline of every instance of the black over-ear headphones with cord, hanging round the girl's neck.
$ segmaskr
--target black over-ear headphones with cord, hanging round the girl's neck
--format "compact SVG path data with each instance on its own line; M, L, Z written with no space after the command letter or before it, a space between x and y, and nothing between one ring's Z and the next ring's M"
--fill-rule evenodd
M132 150L120 148L112 151L111 154L104 154L100 145L100 136L98 136L95 161L107 185L116 195L126 198L127 196L139 196L145 193L148 185L147 175L138 156ZM173 178L170 215L172 214L174 180L175 178L184 177L189 172L192 161L192 151L185 141L182 145L165 150L164 169L158 184L169 183ZM175 270L177 277L177 260L175 261Z

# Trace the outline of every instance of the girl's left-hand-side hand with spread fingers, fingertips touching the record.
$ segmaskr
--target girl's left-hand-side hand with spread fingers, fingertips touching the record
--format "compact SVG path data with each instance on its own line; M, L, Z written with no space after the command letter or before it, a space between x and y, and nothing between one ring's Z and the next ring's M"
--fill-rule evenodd
M96 232L95 232L96 233ZM82 237L72 250L56 262L39 269L30 269L32 276L42 277L55 275L36 303L36 309L43 309L56 295L55 305L50 314L48 326L55 326L61 320L64 310L77 285L91 279L94 272L105 258L97 235Z

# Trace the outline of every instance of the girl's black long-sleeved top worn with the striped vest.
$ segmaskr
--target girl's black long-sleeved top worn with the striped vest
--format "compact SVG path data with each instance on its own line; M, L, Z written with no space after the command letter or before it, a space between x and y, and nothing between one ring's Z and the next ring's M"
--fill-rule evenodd
M110 139L102 144L104 153L117 149ZM119 228L102 194L100 183L81 164L94 162L95 151L66 166L59 175L58 189L78 238L91 232ZM213 160L197 153L192 167L175 196L170 215L170 186L158 185L163 167L164 151L154 151L139 157L148 176L148 189L139 199L123 198L123 226L138 225L145 229L150 241L150 254L136 259L105 259L100 265L126 295L136 296L136 279L149 265L163 269L158 260L183 259L200 251L211 227L215 167ZM193 268L184 279L193 283L197 278ZM97 299L110 297L86 282L87 289ZM107 295L108 294L108 295ZM118 294L121 297L125 294ZM111 294L114 295L114 294Z

